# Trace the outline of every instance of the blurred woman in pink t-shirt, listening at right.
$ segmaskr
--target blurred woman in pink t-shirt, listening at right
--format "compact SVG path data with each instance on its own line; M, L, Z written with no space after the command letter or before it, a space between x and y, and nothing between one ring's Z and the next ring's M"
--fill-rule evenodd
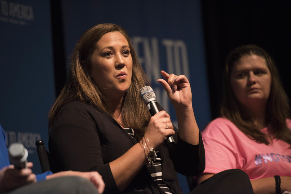
M291 191L289 100L269 54L255 45L232 51L223 75L220 113L202 132L202 182L226 169L242 169L255 194Z

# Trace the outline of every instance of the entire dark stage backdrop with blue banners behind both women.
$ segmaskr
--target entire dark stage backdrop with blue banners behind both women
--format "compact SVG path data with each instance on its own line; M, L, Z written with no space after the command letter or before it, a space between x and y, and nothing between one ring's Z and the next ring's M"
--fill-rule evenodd
M186 74L200 130L217 117L222 71L229 51L257 44L274 58L290 97L291 1L0 1L0 123L10 143L29 150L48 142L48 112L68 73L82 33L99 23L124 27L161 104L173 107L156 83L159 70ZM183 193L189 189L179 175Z

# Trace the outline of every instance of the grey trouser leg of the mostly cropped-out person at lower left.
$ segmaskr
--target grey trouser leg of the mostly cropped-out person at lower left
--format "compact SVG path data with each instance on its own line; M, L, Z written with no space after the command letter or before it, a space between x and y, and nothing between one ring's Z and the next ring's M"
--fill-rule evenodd
M4 194L98 194L95 186L87 179L64 176L43 180L14 189Z

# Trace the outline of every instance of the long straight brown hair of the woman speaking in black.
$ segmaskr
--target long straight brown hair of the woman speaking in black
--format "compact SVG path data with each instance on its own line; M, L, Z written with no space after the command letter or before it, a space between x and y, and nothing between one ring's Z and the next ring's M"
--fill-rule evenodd
M132 127L137 132L137 135L142 136L145 132L150 114L139 97L139 89L145 85L149 85L150 82L138 61L127 32L115 24L99 24L93 26L81 36L75 45L71 55L68 80L49 111L50 127L59 110L71 101L81 101L91 104L91 106L94 105L100 111L104 111L112 116L109 104L102 90L95 84L90 75L92 53L95 50L95 44L103 35L113 31L119 31L126 38L132 56L131 85L123 96L122 122L125 126Z

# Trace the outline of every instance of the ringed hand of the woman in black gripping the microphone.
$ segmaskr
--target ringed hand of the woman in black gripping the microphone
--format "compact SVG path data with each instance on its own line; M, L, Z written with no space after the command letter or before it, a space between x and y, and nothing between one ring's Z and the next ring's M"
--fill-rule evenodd
M168 129L167 129L167 126ZM175 134L173 130L173 124L171 122L170 116L165 110L156 113L149 120L149 125L146 129L145 136L149 139L150 145L155 150L167 139L169 135ZM146 143L148 141L146 140Z

